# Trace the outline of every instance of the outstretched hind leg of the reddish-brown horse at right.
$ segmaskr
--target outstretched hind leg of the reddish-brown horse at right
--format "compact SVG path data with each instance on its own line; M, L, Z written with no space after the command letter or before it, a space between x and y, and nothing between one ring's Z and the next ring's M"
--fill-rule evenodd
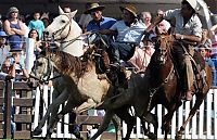
M196 113L197 109L201 106L204 98L205 98L204 94L203 96L201 94L200 97L196 97L196 101L194 103L194 106L191 109L188 118L184 120L184 123L180 127L179 131L176 133L176 140L181 140L182 139L182 133L183 133L183 131L186 129L187 124L192 119L192 117Z

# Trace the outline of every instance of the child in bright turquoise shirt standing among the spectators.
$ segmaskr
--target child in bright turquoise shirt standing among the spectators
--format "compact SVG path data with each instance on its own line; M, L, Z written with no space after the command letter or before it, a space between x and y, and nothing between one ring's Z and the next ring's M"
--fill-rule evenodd
M39 39L42 39L42 34L44 30L43 22L40 20L40 12L36 11L34 12L34 20L31 20L28 24L29 29L37 29L39 34Z

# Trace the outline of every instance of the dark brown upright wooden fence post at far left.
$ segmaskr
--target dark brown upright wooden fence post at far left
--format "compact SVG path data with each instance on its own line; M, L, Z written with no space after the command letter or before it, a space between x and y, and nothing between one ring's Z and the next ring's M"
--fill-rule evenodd
M11 102L12 102L12 81L7 80L4 92L4 137L11 139Z

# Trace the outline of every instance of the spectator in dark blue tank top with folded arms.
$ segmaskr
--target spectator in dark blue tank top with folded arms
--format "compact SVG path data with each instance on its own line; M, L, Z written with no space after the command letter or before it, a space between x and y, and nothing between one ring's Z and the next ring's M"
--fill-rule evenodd
M22 50L22 37L24 36L23 22L18 20L18 9L11 7L8 12L8 20L4 21L4 30L11 47L11 51Z

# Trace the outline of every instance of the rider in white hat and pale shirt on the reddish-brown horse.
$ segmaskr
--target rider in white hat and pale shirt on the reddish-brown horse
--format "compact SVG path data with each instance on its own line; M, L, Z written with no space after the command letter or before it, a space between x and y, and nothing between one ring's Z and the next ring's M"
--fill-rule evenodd
M186 49L181 46L174 46L173 54L175 56L175 62L178 64L177 68L181 78L181 85L183 85L182 90L186 96L186 100L192 99L191 88L193 86L193 80L190 73L192 74L193 72L191 63L187 63L184 61L187 59L184 50L188 50L188 52L193 50L193 44L199 43L202 38L202 23L196 14L197 10L199 5L196 0L182 0L181 9L168 10L164 13L164 15L156 16L154 23L144 31L144 34L150 33L151 29L162 20L176 20L174 37L175 39L180 40L179 42L181 42ZM188 68L191 71L187 72ZM183 78L184 75L187 78ZM184 80L188 82L184 82Z

